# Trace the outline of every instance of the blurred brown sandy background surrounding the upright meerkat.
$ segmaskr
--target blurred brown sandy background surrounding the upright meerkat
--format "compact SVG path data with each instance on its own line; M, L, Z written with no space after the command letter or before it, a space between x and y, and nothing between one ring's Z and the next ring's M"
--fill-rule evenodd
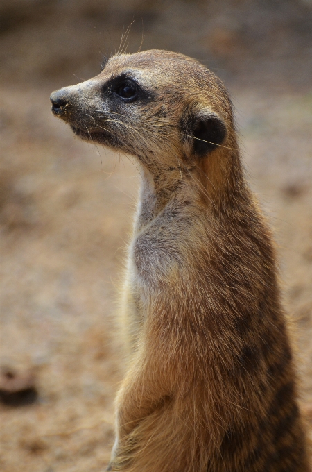
M170 49L232 94L248 180L275 233L312 440L312 1L1 0L3 472L99 472L123 360L116 295L139 176L80 142L50 93L103 54Z

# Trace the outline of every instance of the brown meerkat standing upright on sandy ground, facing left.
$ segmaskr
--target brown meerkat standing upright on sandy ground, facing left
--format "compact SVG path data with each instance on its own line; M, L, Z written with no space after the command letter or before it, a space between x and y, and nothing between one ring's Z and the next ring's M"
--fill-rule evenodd
M51 102L83 140L134 155L143 176L108 470L307 472L275 251L223 83L182 54L142 51Z

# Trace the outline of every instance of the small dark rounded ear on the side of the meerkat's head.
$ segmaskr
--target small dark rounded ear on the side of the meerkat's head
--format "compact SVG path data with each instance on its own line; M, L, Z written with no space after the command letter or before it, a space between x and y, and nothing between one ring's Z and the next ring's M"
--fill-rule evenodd
M227 134L227 129L223 120L211 112L191 112L187 119L184 117L184 133L187 135L185 140L189 151L192 154L201 157L216 149L221 144Z

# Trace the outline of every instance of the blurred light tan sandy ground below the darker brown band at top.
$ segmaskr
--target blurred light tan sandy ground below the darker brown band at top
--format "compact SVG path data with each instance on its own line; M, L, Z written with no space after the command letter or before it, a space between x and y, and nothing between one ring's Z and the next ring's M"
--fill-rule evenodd
M49 94L72 76L30 83L27 74L28 65L16 80L5 72L0 84L1 471L99 472L123 375L114 318L140 176L131 158L80 142L51 115ZM311 87L231 74L248 180L278 246L312 441Z

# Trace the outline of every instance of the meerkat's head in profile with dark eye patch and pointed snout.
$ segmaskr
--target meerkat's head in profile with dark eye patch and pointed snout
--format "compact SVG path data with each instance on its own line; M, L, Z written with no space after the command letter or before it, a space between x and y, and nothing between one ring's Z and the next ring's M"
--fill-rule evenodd
M222 83L169 51L113 56L101 74L51 94L54 115L83 140L177 167L227 144L232 109Z

